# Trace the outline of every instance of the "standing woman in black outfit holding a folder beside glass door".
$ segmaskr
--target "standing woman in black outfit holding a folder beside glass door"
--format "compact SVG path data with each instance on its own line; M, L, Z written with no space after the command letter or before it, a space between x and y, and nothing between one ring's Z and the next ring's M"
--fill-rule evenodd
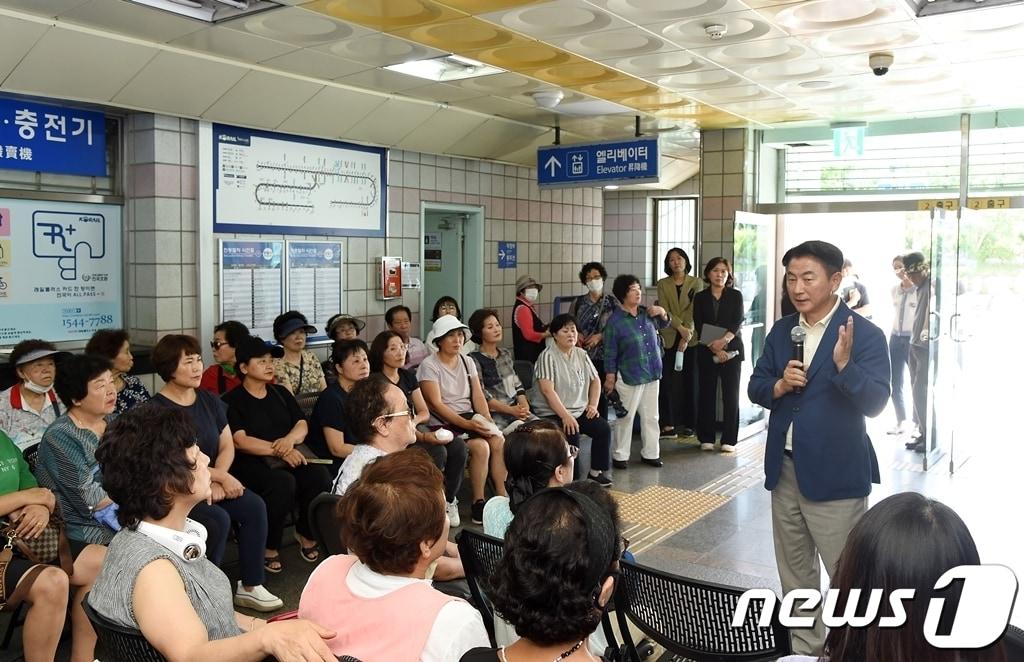
M722 452L736 450L739 435L739 370L743 363L743 295L732 287L732 267L713 257L703 270L708 287L693 297L697 346L697 441L700 450L715 450L716 404L722 382Z

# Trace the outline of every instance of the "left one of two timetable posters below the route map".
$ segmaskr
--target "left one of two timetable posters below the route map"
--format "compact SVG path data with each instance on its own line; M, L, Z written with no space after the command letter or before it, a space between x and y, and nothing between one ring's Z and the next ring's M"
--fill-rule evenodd
M285 308L285 242L220 241L220 319L238 320L273 340Z

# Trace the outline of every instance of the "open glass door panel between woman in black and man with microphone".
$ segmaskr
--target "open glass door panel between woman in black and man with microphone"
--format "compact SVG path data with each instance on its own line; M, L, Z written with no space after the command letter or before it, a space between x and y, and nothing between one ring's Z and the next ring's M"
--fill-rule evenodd
M746 397L745 384L764 351L765 336L775 311L775 215L736 212L732 270L735 287L743 293L746 316L741 329L746 344L739 383L739 439L756 435L767 425L764 409Z

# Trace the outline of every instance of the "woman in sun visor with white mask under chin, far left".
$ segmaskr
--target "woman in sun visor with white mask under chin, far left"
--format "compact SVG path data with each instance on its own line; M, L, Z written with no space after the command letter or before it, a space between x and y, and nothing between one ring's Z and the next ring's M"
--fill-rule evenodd
M43 432L62 410L53 390L53 360L58 354L46 340L23 340L10 351L10 366L19 382L0 392L0 430L27 459L35 456Z

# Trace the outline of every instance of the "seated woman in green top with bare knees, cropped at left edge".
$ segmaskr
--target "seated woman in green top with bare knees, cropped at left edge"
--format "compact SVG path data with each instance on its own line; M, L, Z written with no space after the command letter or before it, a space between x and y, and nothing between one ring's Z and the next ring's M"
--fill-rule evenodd
M32 540L46 530L55 507L53 493L37 486L22 453L0 431L0 516L11 523L19 537ZM22 599L30 605L22 634L26 662L54 659L68 613L69 583L75 587L71 659L72 662L93 659L96 635L82 611L82 597L99 573L104 551L100 545L80 548L70 579L60 568L37 565L20 556L13 556L7 564L0 602L8 608Z

